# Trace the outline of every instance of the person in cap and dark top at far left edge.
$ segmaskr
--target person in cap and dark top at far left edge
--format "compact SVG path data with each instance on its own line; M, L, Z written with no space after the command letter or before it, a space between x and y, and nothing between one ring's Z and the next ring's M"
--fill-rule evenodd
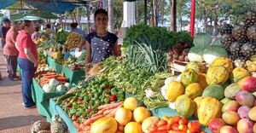
M2 45L2 49L3 46L5 45L5 38L6 38L6 34L10 29L10 20L8 18L4 18L3 19L3 26L0 27L0 43Z

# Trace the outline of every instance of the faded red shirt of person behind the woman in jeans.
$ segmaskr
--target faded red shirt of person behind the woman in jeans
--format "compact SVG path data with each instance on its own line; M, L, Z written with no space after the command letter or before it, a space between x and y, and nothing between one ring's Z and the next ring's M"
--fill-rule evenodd
M18 32L15 31L15 28L12 27L6 34L6 43L3 47L3 55L19 55L18 49L15 47L16 37Z

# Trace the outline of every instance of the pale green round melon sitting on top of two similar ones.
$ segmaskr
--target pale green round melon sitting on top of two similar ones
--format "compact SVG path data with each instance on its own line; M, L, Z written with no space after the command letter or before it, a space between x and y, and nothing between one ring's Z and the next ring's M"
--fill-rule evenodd
M202 49L207 48L212 43L211 35L207 33L199 33L194 38L194 45Z

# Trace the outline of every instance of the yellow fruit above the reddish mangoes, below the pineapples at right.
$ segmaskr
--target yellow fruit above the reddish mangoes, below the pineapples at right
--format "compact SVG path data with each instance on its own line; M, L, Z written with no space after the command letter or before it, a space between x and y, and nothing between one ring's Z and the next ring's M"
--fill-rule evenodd
M241 80L241 78L245 78L247 76L250 76L250 73L247 71L247 69L242 67L236 67L230 76L232 82L238 82Z

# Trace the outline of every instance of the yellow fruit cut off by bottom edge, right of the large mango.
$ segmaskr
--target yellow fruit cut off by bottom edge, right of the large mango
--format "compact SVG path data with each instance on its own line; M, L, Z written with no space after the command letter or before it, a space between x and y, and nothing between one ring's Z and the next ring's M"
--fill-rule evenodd
M130 122L125 125L125 133L143 133L142 125L137 122Z

